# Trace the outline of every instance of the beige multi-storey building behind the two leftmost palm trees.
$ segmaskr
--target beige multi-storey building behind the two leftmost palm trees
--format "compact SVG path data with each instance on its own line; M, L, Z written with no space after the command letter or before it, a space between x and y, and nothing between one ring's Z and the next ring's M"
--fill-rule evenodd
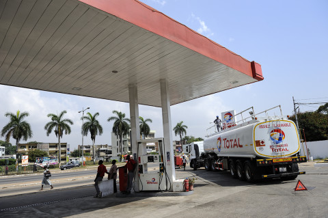
M27 154L29 150L43 150L47 152L49 156L58 155L58 143L29 143L29 144L18 144L18 154ZM68 156L67 152L70 150L70 145L66 142L60 143L61 162L66 161Z

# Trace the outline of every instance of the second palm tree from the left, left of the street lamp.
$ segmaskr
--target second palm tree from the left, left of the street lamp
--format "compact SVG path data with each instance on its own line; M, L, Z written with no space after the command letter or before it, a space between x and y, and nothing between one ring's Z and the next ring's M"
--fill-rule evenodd
M58 161L60 167L60 159L61 159L61 148L60 148L60 138L63 137L63 133L65 131L65 135L70 134L70 125L73 124L70 119L63 119L64 114L67 111L61 111L59 115L55 115L54 113L49 113L47 115L48 118L51 118L51 122L48 122L44 126L44 130L46 130L46 136L49 136L50 133L55 128L54 132L56 137L58 137Z

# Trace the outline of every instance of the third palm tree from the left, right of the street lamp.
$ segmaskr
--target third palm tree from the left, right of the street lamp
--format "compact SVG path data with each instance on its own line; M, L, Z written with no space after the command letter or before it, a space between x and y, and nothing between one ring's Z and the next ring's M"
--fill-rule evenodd
M94 154L94 159L96 156L96 153L94 151L94 144L96 142L96 135L102 134L102 126L99 124L98 120L96 120L96 117L99 115L99 113L95 113L92 115L91 113L87 112L87 115L85 115L81 120L86 120L86 122L83 124L81 128L81 132L83 135L87 136L87 132L90 132L91 139L92 139L92 152ZM94 161L95 164L95 161Z

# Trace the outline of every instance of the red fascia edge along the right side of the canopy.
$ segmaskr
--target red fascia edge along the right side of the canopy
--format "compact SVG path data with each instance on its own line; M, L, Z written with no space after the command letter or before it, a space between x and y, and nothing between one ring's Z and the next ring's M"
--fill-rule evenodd
M262 80L260 64L233 53L225 47L200 35L189 27L154 10L137 0L79 0L98 10L117 16L124 21L156 33L197 53L247 74L258 81Z

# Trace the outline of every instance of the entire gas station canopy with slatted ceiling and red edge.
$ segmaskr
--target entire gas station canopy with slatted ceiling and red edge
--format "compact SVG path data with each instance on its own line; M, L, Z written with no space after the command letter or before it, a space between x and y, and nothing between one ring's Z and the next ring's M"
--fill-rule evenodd
M136 0L0 0L0 83L161 107L263 79L260 64Z

